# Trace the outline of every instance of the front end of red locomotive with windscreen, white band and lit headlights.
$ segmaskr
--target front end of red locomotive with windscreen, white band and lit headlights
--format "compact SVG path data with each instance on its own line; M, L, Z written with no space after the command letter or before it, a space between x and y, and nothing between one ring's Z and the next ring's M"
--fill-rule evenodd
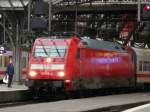
M68 41L65 39L37 39L29 60L27 86L30 88L63 87L67 49Z

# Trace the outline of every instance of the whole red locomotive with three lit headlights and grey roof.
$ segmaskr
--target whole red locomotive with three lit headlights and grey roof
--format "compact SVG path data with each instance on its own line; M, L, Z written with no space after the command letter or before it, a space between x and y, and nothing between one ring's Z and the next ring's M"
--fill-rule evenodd
M131 50L115 42L81 38L38 38L29 59L29 88L67 91L135 84Z

